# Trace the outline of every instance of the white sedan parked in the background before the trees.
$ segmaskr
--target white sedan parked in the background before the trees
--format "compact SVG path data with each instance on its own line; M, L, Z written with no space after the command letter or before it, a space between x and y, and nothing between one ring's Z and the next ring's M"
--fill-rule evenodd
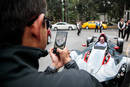
M68 30L74 30L77 29L76 25L69 24L67 22L57 22L56 24L52 25L52 30L58 30L58 29L68 29Z

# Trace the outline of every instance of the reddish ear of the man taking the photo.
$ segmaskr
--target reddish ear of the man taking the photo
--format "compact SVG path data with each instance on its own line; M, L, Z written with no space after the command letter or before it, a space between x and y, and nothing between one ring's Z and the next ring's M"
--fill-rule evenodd
M34 21L34 23L31 25L31 33L38 40L40 40L40 29L42 26L43 19L44 19L44 14L40 14L38 18Z

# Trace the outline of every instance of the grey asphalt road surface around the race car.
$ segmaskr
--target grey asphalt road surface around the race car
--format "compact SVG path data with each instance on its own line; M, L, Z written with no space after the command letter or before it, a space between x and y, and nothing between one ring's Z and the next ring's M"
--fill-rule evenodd
M82 30L80 33L80 36L77 36L77 30L72 30L72 31L66 31L68 32L68 38L66 42L66 47L71 51L71 50L84 50L85 47L82 47L82 44L86 44L86 40L88 37L91 36L99 36L100 33L95 33L94 30ZM107 29L103 30L103 32L108 36L109 39L112 41L115 41L113 38L118 36L118 30L117 29ZM54 47L54 40L56 36L56 31L51 31L52 33L52 38L51 38L51 43L47 45L46 49L49 50L49 48ZM114 42L115 43L115 42ZM128 42L124 40L124 49L123 49L123 54L127 55L130 57L130 38ZM45 68L51 64L51 59L50 56L48 55L47 57L41 57L39 59L39 71L44 71Z

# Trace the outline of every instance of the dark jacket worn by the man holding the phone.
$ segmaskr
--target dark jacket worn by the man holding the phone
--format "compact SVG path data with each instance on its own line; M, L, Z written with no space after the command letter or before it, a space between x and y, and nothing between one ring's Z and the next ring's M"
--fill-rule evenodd
M38 72L42 55L37 48L1 46L0 87L102 87L93 76L74 66L61 72Z

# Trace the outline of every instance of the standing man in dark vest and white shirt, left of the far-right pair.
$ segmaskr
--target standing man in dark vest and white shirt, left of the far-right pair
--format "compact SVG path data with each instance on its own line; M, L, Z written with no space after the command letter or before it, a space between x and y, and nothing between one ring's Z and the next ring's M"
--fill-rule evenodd
M125 29L125 22L123 18L121 18L120 21L118 22L118 29L119 29L118 37L123 38L124 37L123 33Z

